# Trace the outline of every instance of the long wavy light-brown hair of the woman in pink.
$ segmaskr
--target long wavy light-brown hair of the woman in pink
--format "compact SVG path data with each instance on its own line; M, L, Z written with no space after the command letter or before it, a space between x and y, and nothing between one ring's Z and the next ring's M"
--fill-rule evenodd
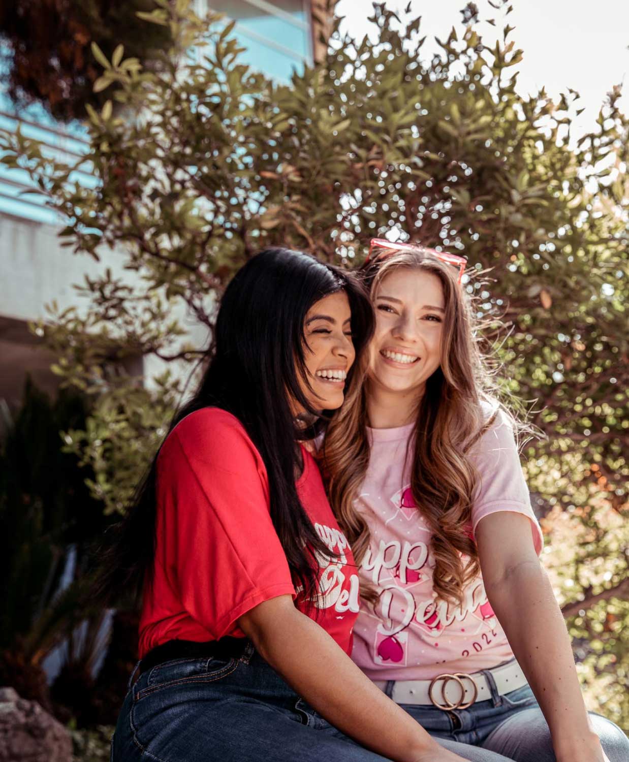
M376 258L359 271L372 301L387 275L400 267L435 275L444 293L441 364L427 379L418 401L410 488L432 530L434 590L439 599L461 604L464 587L480 571L470 532L479 476L468 453L493 423L500 405L477 343L472 304L457 283L457 270L416 249ZM368 384L367 373L365 383L355 387L331 421L319 453L332 509L358 565L370 542L367 523L355 507L369 465ZM489 418L482 402L494 408ZM363 597L375 604L373 586L367 583L362 588Z

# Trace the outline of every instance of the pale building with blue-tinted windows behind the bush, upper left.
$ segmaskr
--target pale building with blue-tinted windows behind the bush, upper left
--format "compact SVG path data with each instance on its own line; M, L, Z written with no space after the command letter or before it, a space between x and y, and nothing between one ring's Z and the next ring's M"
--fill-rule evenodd
M320 5L326 0L312 2ZM288 82L294 69L313 62L320 15L313 11L320 8L311 0L194 0L194 5L200 15L211 8L225 14L226 21L236 21L234 34L246 48L243 61L280 82ZM18 113L2 85L0 127L21 130L61 159L73 162L88 152L80 123L55 123L37 105ZM87 171L78 180L94 182ZM45 305L53 299L60 307L72 306L72 284L82 282L86 274L94 277L102 267L115 271L118 259L112 254L111 261L98 264L61 248L56 234L62 223L42 197L22 194L30 187L26 172L0 165L0 401L5 401L0 404L9 408L19 404L25 373L43 389L56 386L50 372L53 358L31 334L28 321L45 316Z

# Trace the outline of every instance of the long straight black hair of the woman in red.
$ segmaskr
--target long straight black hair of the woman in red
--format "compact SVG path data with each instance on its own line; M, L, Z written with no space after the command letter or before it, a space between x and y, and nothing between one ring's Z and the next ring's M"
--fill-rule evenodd
M226 288L217 316L209 364L194 397L173 418L169 432L191 412L208 406L228 411L242 423L265 463L271 520L295 584L306 598L316 591L314 552L330 556L300 503L297 440L316 436L326 425L303 392L306 313L319 299L345 291L351 309L356 361L346 389L361 381L361 354L374 330L371 303L351 274L310 255L267 248L253 257ZM294 400L310 414L304 429L294 418ZM98 594L113 602L121 593L140 597L152 581L156 552L157 455L126 517L105 552ZM332 554L333 555L333 554Z

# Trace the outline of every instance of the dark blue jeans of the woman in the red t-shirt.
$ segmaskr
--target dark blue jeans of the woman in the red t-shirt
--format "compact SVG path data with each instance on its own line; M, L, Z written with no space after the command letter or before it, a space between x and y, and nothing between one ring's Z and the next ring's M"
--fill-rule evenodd
M504 762L439 743L470 762ZM250 644L240 658L177 659L141 674L120 711L111 760L388 762L326 722Z

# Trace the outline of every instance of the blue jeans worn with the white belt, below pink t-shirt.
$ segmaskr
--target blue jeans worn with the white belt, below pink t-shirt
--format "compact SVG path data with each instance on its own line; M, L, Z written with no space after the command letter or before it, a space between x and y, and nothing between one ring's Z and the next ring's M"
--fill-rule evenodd
M531 688L525 685L499 696L490 673L488 677L492 698L469 709L444 712L432 706L400 706L434 738L456 741L461 756L465 756L461 748L474 748L479 762L555 762L550 731ZM393 685L387 684L387 693ZM590 717L610 762L629 762L629 739L624 732L602 716L591 712Z

